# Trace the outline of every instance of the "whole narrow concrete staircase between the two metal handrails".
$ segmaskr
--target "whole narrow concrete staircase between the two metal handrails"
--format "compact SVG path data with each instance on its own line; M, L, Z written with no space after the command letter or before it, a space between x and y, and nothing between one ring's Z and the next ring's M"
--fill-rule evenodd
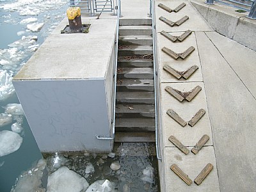
M151 19L120 19L115 142L155 142Z

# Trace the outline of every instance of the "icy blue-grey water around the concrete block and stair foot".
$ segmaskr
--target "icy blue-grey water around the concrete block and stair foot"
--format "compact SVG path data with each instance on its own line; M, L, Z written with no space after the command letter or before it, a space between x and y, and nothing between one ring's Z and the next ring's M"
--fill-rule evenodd
M0 113L6 112L3 108L6 104L19 103L12 86L12 76L63 19L65 10L65 0L0 0ZM31 18L36 21L25 23L25 19ZM44 26L40 31L32 32L27 25L33 23L44 23ZM20 186L28 186L31 191L44 191L49 175L61 166L83 176L89 184L108 179L115 184L117 191L158 191L157 159L151 156L154 149L150 144L123 143L115 146L116 156L113 158L108 154L84 152L44 154L45 167L24 115L12 115L12 122L0 127L0 131L12 131L12 124L20 121L16 120L17 117L23 118L23 131L19 133L23 140L18 150L0 157L1 192L20 189ZM120 164L120 170L111 170L113 162ZM94 172L89 174L85 171L88 164L94 168ZM143 174L148 172L149 176ZM29 189L25 191L29 192Z

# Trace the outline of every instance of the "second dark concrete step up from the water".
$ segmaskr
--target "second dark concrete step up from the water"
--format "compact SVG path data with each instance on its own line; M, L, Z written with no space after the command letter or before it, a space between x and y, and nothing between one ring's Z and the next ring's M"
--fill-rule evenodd
M115 127L155 127L154 118L116 118Z

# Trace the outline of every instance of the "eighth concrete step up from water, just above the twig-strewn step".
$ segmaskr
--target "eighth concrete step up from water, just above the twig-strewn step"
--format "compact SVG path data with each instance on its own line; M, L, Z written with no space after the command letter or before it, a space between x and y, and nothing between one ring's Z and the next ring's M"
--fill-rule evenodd
M118 56L153 54L152 45L118 45Z

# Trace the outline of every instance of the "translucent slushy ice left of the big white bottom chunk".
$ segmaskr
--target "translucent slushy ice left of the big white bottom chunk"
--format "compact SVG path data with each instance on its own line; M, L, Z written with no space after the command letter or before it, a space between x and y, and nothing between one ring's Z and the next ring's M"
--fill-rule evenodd
M45 189L42 188L45 166L45 160L40 159L34 168L19 176L17 184L12 188L11 192L45 192Z

